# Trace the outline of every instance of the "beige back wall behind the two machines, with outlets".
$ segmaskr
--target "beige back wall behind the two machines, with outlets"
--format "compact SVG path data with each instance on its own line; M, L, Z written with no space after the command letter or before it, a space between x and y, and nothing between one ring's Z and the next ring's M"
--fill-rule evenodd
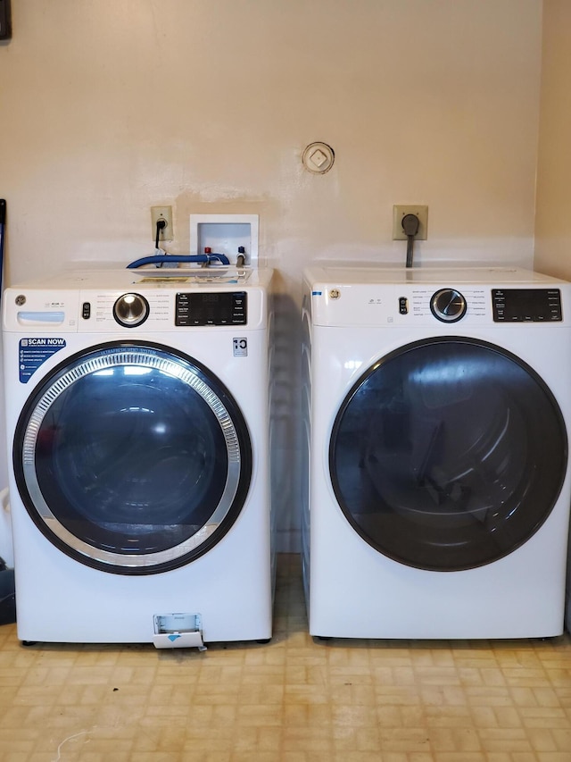
M549 5L549 4L548 4ZM296 542L299 298L315 259L531 265L541 0L18 0L0 44L8 281L150 253L149 207L259 214L279 271L280 529ZM323 176L310 142L335 149Z

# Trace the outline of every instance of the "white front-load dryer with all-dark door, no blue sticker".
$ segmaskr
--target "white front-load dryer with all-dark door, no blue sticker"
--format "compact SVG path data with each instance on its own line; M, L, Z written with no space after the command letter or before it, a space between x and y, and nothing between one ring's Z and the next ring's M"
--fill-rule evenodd
M559 635L571 284L316 267L305 287L310 633Z

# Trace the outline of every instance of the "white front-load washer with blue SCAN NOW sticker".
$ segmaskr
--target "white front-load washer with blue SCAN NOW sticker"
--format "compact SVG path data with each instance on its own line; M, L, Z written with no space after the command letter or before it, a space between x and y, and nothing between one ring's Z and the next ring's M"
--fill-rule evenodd
M22 641L268 640L270 271L4 292Z

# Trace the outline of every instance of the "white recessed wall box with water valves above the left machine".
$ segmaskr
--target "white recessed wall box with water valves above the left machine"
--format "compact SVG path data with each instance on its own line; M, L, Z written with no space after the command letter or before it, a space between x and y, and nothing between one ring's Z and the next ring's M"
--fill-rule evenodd
M259 217L257 214L191 214L190 253L225 254L236 264L238 247L244 247L245 264L258 264Z

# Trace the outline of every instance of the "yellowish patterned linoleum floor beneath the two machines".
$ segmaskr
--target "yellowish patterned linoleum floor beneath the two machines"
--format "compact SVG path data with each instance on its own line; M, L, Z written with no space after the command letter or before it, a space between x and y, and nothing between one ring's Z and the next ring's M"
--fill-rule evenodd
M571 639L319 641L280 556L268 645L26 648L0 762L571 762Z

